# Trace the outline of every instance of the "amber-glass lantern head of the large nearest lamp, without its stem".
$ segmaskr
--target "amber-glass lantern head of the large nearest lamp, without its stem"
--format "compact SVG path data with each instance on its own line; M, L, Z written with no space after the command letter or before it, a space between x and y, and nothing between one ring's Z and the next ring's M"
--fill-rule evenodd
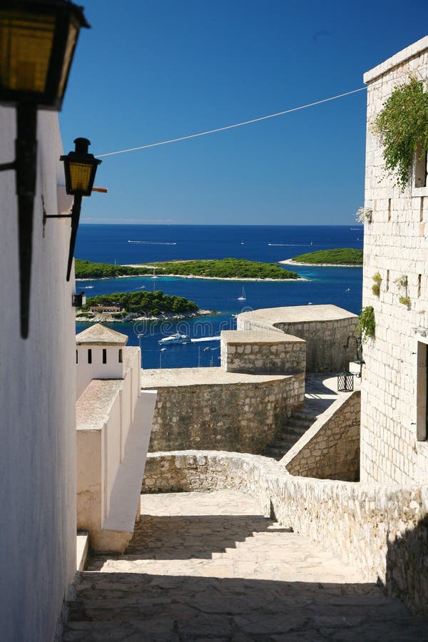
M60 110L83 10L66 0L2 0L0 102Z

